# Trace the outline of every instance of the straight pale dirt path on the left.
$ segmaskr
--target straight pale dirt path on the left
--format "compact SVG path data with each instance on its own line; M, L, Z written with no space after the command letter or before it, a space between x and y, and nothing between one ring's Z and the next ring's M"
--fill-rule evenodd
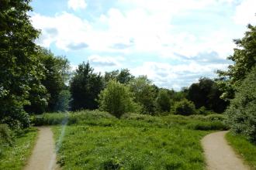
M59 169L56 164L53 132L48 127L39 128L39 136L25 170Z

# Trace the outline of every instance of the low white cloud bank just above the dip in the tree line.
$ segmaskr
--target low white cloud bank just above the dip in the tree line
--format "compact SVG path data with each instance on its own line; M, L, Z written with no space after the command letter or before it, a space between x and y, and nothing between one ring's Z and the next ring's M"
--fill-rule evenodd
M201 65L191 62L188 64L172 65L169 63L145 62L131 70L136 76L147 75L150 80L159 86L180 90L195 83L201 76L216 77L214 71L226 70L227 64L216 63Z

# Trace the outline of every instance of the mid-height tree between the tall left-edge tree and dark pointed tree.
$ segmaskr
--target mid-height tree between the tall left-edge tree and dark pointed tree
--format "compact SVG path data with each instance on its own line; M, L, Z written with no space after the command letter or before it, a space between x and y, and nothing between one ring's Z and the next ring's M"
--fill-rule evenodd
M65 83L69 78L69 62L62 56L54 56L47 49L41 48L38 54L40 63L43 66L44 78L41 83L46 87L47 104L38 102L36 98L37 91L31 91L29 98L31 104L25 107L29 113L42 114L44 111L55 111L57 100L61 90L64 90ZM37 95L38 96L38 95Z

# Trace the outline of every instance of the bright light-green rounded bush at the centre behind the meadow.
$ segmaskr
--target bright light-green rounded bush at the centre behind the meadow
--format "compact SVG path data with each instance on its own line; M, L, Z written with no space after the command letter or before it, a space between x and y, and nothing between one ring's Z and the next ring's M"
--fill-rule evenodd
M116 82L116 80L110 80L106 89L99 94L100 109L108 111L116 117L134 111L136 109L135 105L129 87Z

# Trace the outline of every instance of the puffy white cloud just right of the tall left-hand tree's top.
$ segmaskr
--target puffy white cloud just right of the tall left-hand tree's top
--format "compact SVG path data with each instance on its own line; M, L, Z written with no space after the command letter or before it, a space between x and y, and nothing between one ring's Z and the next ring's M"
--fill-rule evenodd
M34 14L31 19L33 26L42 30L39 39L42 46L49 47L51 43L55 42L59 49L69 50L72 49L72 46L81 44L87 47L86 40L92 39L92 37L88 38L87 32L92 30L92 27L87 20L80 19L71 13L63 12L54 17ZM49 30L54 30L55 33L52 34Z

